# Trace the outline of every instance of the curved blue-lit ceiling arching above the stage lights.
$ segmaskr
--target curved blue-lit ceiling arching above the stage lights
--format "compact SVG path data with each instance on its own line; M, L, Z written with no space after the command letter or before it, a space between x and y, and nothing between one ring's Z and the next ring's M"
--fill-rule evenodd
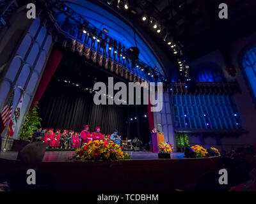
M73 1L63 1L70 8L75 10L77 13L86 18L91 24L99 29L108 29L108 36L120 41L125 47L135 46L134 41L134 29L132 26L127 25L124 21L120 20L118 17L113 15L104 8L93 4L86 0L73 0ZM58 22L64 21L64 15L57 15ZM150 65L152 68L157 67L159 72L164 75L163 67L161 62L158 60L154 50L150 48L150 45L143 36L136 31L136 42L138 48L140 49L140 59Z

